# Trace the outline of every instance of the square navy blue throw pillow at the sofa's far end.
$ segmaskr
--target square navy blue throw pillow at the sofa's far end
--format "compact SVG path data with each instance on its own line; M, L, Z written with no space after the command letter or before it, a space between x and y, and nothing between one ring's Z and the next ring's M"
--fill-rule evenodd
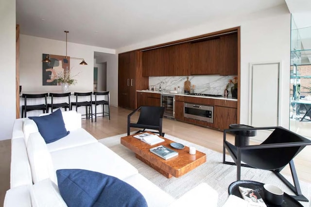
M45 143L55 142L70 133L66 130L60 109L46 116L31 116L28 118L35 121Z

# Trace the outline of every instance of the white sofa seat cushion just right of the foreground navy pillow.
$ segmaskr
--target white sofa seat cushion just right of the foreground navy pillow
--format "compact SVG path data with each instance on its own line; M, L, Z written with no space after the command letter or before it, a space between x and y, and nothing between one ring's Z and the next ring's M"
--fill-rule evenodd
M140 174L127 177L123 181L136 188L144 196L148 207L167 207L175 200L171 195L162 191Z

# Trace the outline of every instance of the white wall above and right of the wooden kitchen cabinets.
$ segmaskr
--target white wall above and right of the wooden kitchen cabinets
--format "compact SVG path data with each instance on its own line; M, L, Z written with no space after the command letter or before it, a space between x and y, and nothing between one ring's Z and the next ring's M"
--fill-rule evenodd
M241 124L248 123L249 64L281 62L280 126L289 127L290 26L291 16L285 4L247 16L231 16L218 21L177 31L135 45L119 48L117 53L162 44L187 37L241 26ZM117 80L117 77L115 78ZM264 84L264 80L262 80ZM262 97L264 101L264 97Z

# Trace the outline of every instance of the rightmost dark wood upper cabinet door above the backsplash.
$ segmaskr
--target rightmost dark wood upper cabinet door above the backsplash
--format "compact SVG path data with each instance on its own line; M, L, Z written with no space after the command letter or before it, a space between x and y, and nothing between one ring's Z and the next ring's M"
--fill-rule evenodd
M220 37L219 74L221 76L238 75L238 33Z

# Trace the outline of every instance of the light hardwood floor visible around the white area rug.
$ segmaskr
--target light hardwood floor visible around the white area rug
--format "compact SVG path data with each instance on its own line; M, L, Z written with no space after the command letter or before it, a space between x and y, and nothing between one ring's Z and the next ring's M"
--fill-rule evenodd
M91 123L90 120L82 120L82 127L85 128L96 139L102 139L127 131L127 115L131 112L127 109L110 107L111 119L107 117L97 118L97 122ZM133 119L137 119L134 116ZM131 128L134 130L134 128ZM223 132L199 127L172 119L164 118L163 132L207 147L209 149L222 153L223 150ZM229 135L228 140L234 142L234 137ZM311 146L307 146L294 159L299 180L311 183ZM3 204L5 192L10 188L10 161L11 161L11 141L0 141L0 205ZM208 158L207 158L208 159ZM219 160L222 161L222 160ZM290 175L289 167L286 167L282 174Z

